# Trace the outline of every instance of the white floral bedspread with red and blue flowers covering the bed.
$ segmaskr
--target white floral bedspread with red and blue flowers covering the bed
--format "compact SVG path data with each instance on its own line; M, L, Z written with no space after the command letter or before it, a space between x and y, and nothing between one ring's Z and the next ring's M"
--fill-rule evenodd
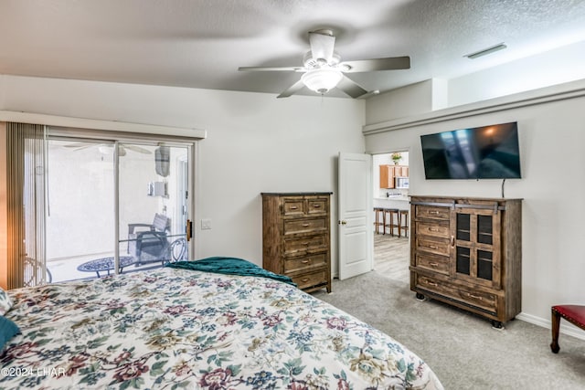
M441 389L388 335L271 279L157 269L9 291L0 389Z

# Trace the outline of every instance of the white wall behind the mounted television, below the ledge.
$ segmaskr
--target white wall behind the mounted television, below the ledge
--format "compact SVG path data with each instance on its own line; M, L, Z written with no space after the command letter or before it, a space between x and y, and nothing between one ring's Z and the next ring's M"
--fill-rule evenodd
M410 148L410 195L499 197L500 180L425 180L420 135L518 122L523 178L505 182L505 197L524 198L521 318L544 326L549 324L551 305L583 303L585 297L585 82L562 88L580 93L548 102L535 99L528 105L510 103L537 94L555 96L561 88L526 92L492 100L491 109L476 104L437 111L412 117L410 124L394 121L388 125L390 131L378 129L366 136L368 152L393 150L394 145Z

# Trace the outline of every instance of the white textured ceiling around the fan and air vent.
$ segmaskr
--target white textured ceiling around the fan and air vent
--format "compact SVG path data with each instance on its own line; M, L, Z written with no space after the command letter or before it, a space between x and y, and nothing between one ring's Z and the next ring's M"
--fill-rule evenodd
M410 56L348 75L384 91L585 40L585 1L0 0L0 74L277 94L300 75L238 67L300 66L322 27L342 59Z

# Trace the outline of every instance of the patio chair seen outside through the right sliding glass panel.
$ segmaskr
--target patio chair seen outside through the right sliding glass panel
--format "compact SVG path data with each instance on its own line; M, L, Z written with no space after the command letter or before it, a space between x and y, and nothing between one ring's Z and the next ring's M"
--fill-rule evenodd
M128 224L128 253L136 265L169 258L169 230L170 219L162 214L155 214L152 224Z

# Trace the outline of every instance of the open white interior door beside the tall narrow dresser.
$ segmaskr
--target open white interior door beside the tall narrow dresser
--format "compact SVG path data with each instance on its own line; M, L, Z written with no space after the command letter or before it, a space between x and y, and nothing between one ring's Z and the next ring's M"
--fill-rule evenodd
M372 158L339 153L339 279L372 269Z

